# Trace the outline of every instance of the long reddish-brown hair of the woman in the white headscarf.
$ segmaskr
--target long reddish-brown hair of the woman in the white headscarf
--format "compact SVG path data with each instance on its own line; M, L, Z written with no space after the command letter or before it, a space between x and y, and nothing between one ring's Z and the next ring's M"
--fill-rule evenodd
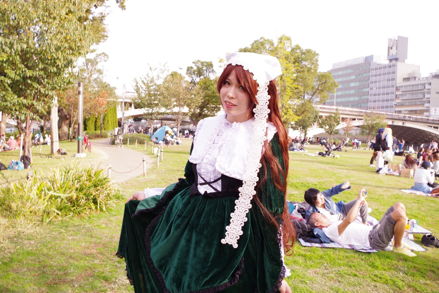
M234 72L236 75L237 81L240 83L242 87L247 91L250 98L252 99L253 106L252 109L255 108L258 101L256 100L256 94L258 92L258 83L253 79L253 74L247 70L245 70L240 65L227 65L224 69L221 76L219 76L218 83L216 84L216 89L218 92L221 90L221 87L223 86L226 78ZM292 253L292 246L294 245L295 240L295 230L293 228L293 225L291 224L291 216L288 213L288 207L286 202L286 195L287 195L287 177L288 177L288 163L289 163L289 154L288 154L288 134L287 130L284 127L284 124L282 123L281 119L281 112L279 111L278 106L278 99L277 99L277 86L276 86L276 80L270 81L268 85L268 94L270 95L270 99L268 100L268 109L270 109L270 113L268 114L268 121L274 124L274 126L277 128L277 134L279 137L279 145L281 146L282 151L282 159L283 159L283 165L285 168L282 170L280 162L277 160L276 156L274 156L272 149L270 148L270 145L267 141L264 142L265 152L263 153L261 157L260 163L262 164L263 168L267 170L267 163L270 162L270 170L271 170L271 176L273 179L274 186L282 191L284 193L284 212L281 214L283 225L282 225L282 233L283 233L283 242L284 242L284 249L285 253L291 254ZM252 115L254 115L252 111ZM267 172L264 173L264 177L261 179L260 184L263 184L267 180ZM258 184L260 186L260 184ZM279 228L279 225L277 224L276 219L273 217L273 215L268 212L268 210L263 206L260 199L257 196L253 197L256 204L261 209L263 216L266 218L266 220L269 223L272 223L277 228ZM292 242L290 242L292 240Z

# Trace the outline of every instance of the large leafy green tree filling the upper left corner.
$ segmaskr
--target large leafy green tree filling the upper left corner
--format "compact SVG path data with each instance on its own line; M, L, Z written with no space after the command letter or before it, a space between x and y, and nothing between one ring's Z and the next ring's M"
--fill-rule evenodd
M32 122L49 112L56 90L73 83L68 69L105 39L106 14L97 9L104 2L0 3L2 100L6 97L11 116L25 124L25 155Z

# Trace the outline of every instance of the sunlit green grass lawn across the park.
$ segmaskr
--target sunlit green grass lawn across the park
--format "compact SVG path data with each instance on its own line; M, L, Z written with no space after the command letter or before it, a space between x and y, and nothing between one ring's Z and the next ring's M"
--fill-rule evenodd
M146 178L137 177L119 184L122 199L144 187L165 187L182 177L191 140L182 141L181 146L164 148L164 162L158 169L155 165L148 169ZM67 150L69 155L76 152L76 144L66 144L73 145ZM307 149L309 153L321 150L318 145L309 145ZM137 150L144 152L144 147ZM147 148L146 153L149 152ZM34 152L34 168L41 164L45 166L43 170L47 170L54 162L61 161L48 159L46 154L39 162L35 153L39 157L38 152ZM410 219L419 220L421 226L439 235L439 199L400 192L400 189L410 188L413 179L378 175L375 168L368 166L372 151L348 148L348 152L336 154L340 155L339 159L290 152L288 200L302 202L303 192L309 187L322 190L349 181L352 189L336 195L336 201L352 200L358 190L366 187L373 217L380 219L389 206L399 201L406 205ZM82 163L98 163L102 155L94 148L90 155L87 153L88 160ZM9 161L4 158L0 153L2 162ZM401 162L402 157L394 158L394 163ZM133 292L126 280L124 261L115 257L124 203L124 200L118 202L108 213L94 213L47 225L0 215L3 235L0 238L3 239L0 242L0 292ZM420 244L421 236L415 235L415 241ZM287 281L293 292L439 290L439 252L435 248L410 258L387 251L360 253L303 247L296 242L294 254L285 261L291 269L292 275Z

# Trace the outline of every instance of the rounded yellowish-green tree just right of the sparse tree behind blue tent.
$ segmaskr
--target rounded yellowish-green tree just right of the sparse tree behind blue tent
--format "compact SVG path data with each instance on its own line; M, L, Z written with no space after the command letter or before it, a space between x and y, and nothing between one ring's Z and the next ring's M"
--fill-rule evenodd
M201 97L197 87L191 90L190 83L178 72L171 72L163 80L163 96L166 110L174 116L177 123L177 133L180 131L180 123L184 117L190 116L190 110L199 105Z

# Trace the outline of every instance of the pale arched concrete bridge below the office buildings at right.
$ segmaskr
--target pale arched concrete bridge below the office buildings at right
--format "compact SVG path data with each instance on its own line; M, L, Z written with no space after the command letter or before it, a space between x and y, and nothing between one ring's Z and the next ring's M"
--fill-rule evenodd
M393 135L398 139L403 138L407 145L420 145L421 143L430 143L432 139L436 141L439 139L439 118L436 117L378 112L329 105L317 105L317 109L319 109L321 117L333 114L335 109L338 109L341 123L337 129L346 127L345 121L348 118L352 120L351 124L353 126L360 127L363 125L364 114L374 112L375 114L385 115L385 122L392 128ZM324 133L324 130L317 127L317 125L314 125L308 130L309 136L322 133Z

